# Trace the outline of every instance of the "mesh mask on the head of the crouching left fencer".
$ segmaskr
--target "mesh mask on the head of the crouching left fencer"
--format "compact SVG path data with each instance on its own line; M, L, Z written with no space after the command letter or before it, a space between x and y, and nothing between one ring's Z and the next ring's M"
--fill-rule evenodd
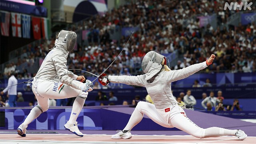
M76 33L66 30L61 30L58 37L55 40L55 46L61 47L64 50L70 52L74 49L76 44Z

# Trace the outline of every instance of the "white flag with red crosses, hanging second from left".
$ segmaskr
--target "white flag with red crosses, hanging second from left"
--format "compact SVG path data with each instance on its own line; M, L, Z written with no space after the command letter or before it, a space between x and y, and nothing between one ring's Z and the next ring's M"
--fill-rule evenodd
M12 36L21 38L20 14L12 12Z

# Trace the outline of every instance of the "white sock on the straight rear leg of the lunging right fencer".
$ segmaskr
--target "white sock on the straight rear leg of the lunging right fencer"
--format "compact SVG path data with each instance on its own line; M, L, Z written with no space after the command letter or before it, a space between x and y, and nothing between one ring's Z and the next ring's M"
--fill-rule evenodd
M225 128L211 127L206 128L204 138L219 136L234 136L237 130L228 130Z

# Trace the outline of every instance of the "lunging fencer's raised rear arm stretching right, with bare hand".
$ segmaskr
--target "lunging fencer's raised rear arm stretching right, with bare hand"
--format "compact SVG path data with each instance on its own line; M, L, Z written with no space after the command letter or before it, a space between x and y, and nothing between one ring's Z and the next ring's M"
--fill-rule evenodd
M181 70L168 71L168 72L166 72L166 79L169 82L175 82L177 80L187 78L188 76L190 76L190 75L198 72L199 70L206 68L208 65L212 64L214 58L215 58L215 55L212 54L206 62L201 62L199 64L193 64L186 68L182 68Z

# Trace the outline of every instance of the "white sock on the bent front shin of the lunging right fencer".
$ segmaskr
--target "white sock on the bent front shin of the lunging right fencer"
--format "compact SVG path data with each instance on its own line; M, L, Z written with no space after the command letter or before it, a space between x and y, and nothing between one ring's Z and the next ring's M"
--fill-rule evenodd
M130 117L130 120L127 123L126 127L124 128L124 130L132 130L132 128L134 126L136 126L136 124L138 124L142 120L142 118L143 118L143 114L140 113L140 111L138 110L138 106L136 106L136 108L132 112L132 116Z

